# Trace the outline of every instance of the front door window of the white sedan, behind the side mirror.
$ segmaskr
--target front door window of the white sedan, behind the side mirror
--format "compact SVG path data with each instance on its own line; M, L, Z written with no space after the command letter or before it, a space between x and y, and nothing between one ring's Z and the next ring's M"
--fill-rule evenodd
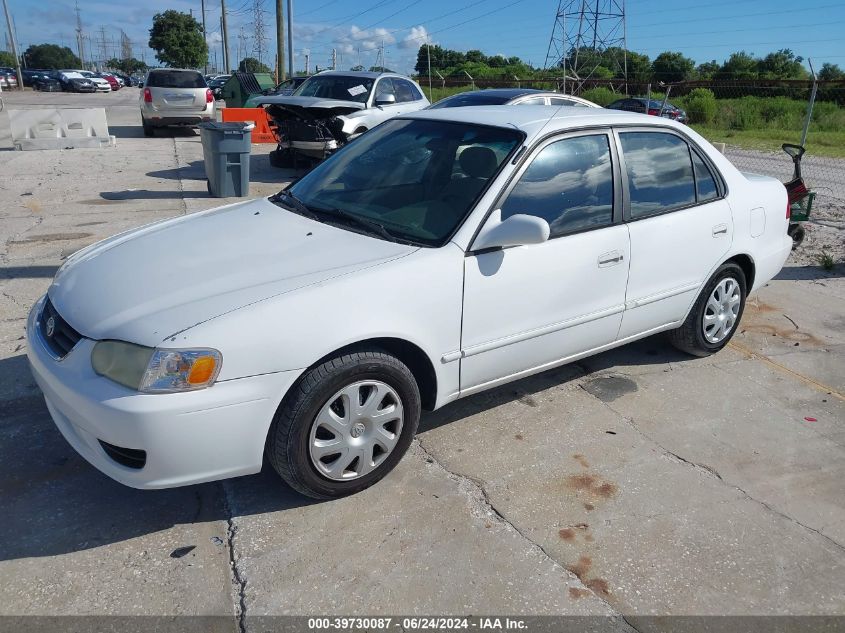
M540 150L502 204L502 219L517 213L546 220L551 237L612 224L607 135L562 139Z

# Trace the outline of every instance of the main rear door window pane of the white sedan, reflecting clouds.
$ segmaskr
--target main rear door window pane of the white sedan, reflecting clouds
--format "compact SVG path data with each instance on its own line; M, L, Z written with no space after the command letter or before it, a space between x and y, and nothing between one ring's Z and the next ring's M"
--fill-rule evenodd
M621 132L631 219L695 203L689 146L674 134Z

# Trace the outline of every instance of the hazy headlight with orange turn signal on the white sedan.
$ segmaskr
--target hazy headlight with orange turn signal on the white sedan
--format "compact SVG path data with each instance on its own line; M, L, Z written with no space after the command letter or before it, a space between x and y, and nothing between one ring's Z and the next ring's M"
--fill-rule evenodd
M216 349L153 349L122 341L100 341L91 352L95 372L145 393L209 387L222 361Z

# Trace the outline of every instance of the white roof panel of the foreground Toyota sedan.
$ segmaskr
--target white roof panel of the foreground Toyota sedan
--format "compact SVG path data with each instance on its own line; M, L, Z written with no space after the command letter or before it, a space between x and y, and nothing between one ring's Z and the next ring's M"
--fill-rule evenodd
M605 108L573 108L568 106L466 106L463 108L441 108L420 110L400 115L406 119L428 119L492 125L495 127L516 128L530 138L540 130L557 132L561 130L604 125L653 125L672 126L683 129L684 126L665 118L607 110Z

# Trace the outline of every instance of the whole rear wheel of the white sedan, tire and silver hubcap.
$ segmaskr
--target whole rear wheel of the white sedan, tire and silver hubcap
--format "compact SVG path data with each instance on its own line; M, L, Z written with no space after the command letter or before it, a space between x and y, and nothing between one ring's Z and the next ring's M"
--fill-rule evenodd
M709 356L725 347L745 309L745 273L729 262L713 273L695 300L684 324L669 331L669 340L693 356Z

